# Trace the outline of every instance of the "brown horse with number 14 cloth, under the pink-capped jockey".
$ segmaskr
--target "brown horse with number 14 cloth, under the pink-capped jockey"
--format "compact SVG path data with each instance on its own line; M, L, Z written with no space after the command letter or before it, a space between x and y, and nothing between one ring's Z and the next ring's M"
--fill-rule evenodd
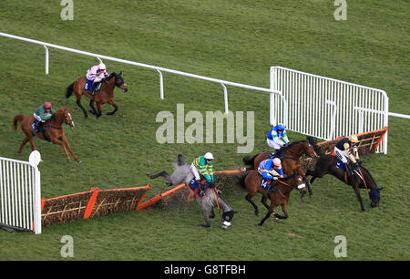
M261 220L259 225L261 226L269 216L272 215L279 219L287 219L289 217L287 204L289 202L290 194L293 188L299 191L306 191L305 184L303 183L302 175L298 172L294 172L276 182L276 191L266 192L265 189L261 188L262 176L258 171L247 171L240 179L239 184L244 188L248 194L245 196L245 200L250 202L255 210L255 215L258 215L258 206L251 201L251 198L257 193L262 194L262 204L268 209L265 217ZM266 203L267 199L271 200L271 205L268 206ZM284 215L280 215L274 212L275 207L281 205L282 212Z

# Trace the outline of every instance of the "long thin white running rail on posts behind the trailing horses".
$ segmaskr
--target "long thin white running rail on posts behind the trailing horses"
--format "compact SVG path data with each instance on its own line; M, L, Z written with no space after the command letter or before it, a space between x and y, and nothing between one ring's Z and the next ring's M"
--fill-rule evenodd
M115 61L115 62L119 62L119 63L124 63L124 64L128 64L128 65L155 69L159 73L159 97L160 98L164 98L164 81L163 81L162 72L168 72L168 73L176 74L176 75L179 75L179 76L184 76L184 77L189 77L189 78L197 78L197 79L207 80L207 81L210 81L210 82L219 83L221 85L221 87L223 88L225 113L229 112L228 89L226 88L226 86L232 86L232 87L237 87L237 88L247 88L247 89L262 91L262 92L269 92L269 93L271 93L271 95L272 94L278 95L278 96L282 95L281 92L276 91L276 90L272 90L270 88L259 88L259 87L254 87L254 86L245 85L245 84L241 84L241 83L222 80L222 79L218 79L218 78L208 78L208 77L203 77L203 76L199 76L199 75L194 75L194 74L181 72L181 71L177 71L177 70L173 70L173 69L169 69L169 68L165 68L165 67L156 67L156 66L143 64L143 63L138 63L138 62L134 62L134 61L118 59L116 57L102 56L102 55L98 55L98 54L87 52L87 51L77 50L77 49L74 49L74 48L61 47L61 46L57 46L57 45L53 45L53 44L48 44L48 43L45 43L45 42L29 39L29 38L22 37L22 36L15 36L15 35L10 35L10 34L5 34L5 33L2 33L2 32L0 32L0 36L6 36L6 37L9 37L9 38L14 38L14 39L17 39L17 40L21 40L21 41L25 41L25 42L29 42L29 43L33 43L33 44L43 46L46 49L46 74L48 74L48 63L49 63L48 47L53 47L53 48L56 48L56 49L61 49L61 50L65 50L65 51L68 51L68 52L73 52L73 53L77 53L77 54L80 54L80 55L85 55L85 56L88 56L88 57L96 57L99 61L101 61L101 59L106 59L106 60Z

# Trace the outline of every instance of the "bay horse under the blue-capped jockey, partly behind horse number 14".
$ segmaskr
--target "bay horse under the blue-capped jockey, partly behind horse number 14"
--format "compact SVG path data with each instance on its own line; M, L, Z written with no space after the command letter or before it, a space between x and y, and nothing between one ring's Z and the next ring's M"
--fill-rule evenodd
M281 150L276 152L276 155L279 155L282 160L282 170L285 174L291 175L297 171L302 175L309 191L309 197L311 198L313 197L313 191L309 181L305 178L300 158L303 154L313 158L318 158L319 151L320 150L315 146L315 143L313 143L313 138L308 137L307 140L292 142L288 146L282 147ZM261 161L270 159L271 154L271 152L262 152L254 155L253 157L244 157L242 161L245 165L251 165L251 168L248 168L248 170L258 170L258 166ZM305 194L306 192L302 192L302 200L304 199Z

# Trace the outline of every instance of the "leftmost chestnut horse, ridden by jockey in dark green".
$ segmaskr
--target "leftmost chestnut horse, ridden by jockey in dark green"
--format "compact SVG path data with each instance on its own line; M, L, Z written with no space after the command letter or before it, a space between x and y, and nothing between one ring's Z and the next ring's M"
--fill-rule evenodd
M60 145L63 148L64 152L66 152L67 160L71 161L70 156L67 152L68 149L70 153L73 155L74 159L77 160L78 163L80 163L81 160L79 160L76 154L74 154L73 150L71 150L67 138L64 135L64 129L62 128L63 122L66 123L69 127L74 128L74 122L71 118L69 110L69 108L58 109L56 113L53 115L53 117L46 121L46 124L44 126L44 133L39 132L37 134L33 131L31 127L35 119L34 116L26 117L23 114L16 115L13 121L13 129L17 130L17 122L20 122L20 127L26 134L26 139L23 140L23 143L18 149L18 153L20 153L21 150L23 150L23 147L26 145L27 141L29 141L31 144L31 150L36 150L34 137L37 135L38 138L40 138L41 140L48 140L53 142L54 144Z

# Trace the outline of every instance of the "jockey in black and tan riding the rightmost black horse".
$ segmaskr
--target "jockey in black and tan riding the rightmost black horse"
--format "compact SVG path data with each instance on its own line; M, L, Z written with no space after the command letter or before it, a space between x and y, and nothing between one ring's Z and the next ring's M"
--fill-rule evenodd
M354 143L359 142L356 135L351 135L349 137L345 137L342 140L339 140L336 145L334 145L334 153L336 154L339 160L342 160L344 167L347 171L347 175L352 175L352 171L348 168L348 160L351 160L354 165L360 162L359 152L357 147L354 146ZM351 148L353 147L353 152Z

